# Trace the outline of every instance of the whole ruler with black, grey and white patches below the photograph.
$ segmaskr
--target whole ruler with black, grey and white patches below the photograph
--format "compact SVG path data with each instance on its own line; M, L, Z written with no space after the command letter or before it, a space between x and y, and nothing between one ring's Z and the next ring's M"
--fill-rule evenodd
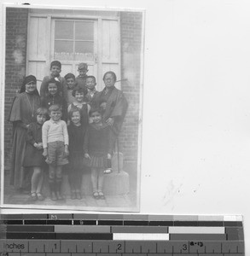
M240 217L4 214L4 256L243 256ZM190 220L192 219L192 220Z

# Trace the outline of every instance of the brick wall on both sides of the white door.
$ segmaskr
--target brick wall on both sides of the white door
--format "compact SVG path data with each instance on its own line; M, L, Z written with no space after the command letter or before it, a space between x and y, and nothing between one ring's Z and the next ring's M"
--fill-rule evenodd
M5 119L15 93L26 73L26 35L28 9L7 9L6 14L6 71ZM121 89L129 102L125 122L119 136L125 166L137 166L138 117L140 98L140 61L142 44L142 13L120 13L121 34ZM9 166L12 126L4 125L5 167Z

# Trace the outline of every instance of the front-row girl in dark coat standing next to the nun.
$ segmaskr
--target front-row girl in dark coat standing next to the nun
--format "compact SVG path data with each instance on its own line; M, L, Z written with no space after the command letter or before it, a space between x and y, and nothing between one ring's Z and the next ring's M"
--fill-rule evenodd
M44 182L43 170L46 165L43 156L43 143L42 143L42 126L47 119L48 111L46 108L38 108L37 122L29 125L26 135L26 153L23 166L32 167L32 190L31 198L33 201L44 200L42 195L42 187Z

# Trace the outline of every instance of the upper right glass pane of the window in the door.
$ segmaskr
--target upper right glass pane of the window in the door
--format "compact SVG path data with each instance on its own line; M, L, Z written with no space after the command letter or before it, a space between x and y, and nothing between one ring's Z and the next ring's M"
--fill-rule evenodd
M76 40L94 40L94 22L76 22Z

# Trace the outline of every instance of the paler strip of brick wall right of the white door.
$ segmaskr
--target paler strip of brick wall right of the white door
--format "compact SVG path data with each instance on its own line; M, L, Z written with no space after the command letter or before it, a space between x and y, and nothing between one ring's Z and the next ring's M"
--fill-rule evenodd
M140 67L142 46L142 13L120 13L121 90L129 102L119 141L125 164L137 166L138 124L140 108ZM142 92L141 92L142 93Z

